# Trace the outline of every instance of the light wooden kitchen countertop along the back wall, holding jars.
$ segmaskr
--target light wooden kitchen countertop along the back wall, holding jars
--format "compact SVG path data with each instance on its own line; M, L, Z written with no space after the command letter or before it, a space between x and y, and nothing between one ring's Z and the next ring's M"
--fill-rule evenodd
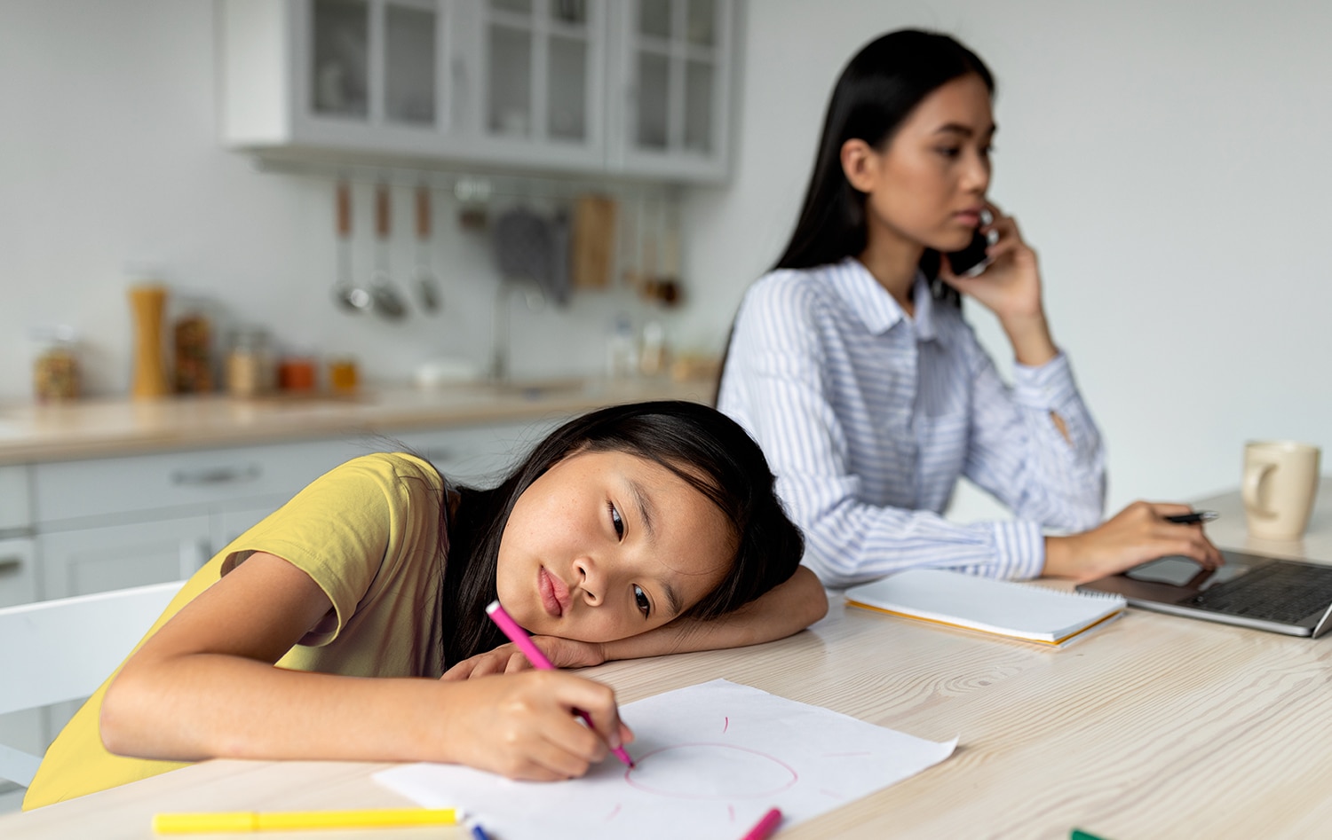
M715 379L559 379L353 395L169 397L0 405L0 466L535 419L641 399L710 403Z

